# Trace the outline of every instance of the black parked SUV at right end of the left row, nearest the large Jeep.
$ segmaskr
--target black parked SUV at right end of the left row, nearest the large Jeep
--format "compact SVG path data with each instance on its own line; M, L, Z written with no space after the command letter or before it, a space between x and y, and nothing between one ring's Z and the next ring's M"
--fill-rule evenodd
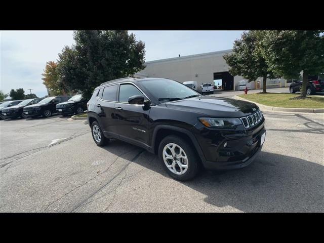
M56 105L56 111L63 116L81 114L87 109L87 102L82 95L75 95L66 102Z

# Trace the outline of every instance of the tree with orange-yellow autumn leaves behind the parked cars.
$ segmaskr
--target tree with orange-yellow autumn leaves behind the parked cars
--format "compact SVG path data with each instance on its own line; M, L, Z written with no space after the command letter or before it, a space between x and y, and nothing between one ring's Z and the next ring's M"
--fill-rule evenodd
M66 95L64 90L64 85L59 80L59 75L57 72L57 63L54 61L49 61L46 63L45 70L42 73L43 84L49 89L49 93L52 96L56 95Z

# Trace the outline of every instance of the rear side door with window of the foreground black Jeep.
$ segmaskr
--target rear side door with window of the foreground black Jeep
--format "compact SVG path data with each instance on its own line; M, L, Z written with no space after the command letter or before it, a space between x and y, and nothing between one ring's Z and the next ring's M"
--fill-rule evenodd
M118 85L102 88L102 97L99 96L96 102L96 107L101 109L98 116L101 120L102 130L108 137L118 137L117 119L115 118L114 109L117 100L117 88Z

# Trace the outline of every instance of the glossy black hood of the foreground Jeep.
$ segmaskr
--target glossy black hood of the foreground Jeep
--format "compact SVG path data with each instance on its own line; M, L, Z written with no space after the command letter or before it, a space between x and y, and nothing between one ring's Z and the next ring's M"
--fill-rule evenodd
M167 102L166 106L221 118L242 117L259 109L256 104L251 102L209 95Z

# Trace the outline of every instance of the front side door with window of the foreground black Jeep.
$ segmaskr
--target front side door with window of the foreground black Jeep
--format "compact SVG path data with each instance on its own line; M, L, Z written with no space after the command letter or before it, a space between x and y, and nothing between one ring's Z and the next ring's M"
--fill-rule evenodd
M144 105L131 105L129 97L145 94L131 83L120 84L118 103L116 103L116 118L118 119L119 138L141 147L149 147L149 112Z

